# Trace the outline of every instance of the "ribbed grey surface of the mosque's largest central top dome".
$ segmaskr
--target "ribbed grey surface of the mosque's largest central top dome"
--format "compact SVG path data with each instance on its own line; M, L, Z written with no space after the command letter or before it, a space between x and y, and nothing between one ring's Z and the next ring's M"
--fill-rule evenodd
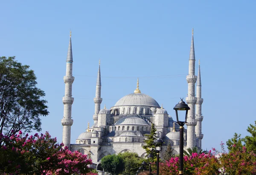
M160 107L154 98L142 93L132 93L125 95L118 100L115 106L156 106Z

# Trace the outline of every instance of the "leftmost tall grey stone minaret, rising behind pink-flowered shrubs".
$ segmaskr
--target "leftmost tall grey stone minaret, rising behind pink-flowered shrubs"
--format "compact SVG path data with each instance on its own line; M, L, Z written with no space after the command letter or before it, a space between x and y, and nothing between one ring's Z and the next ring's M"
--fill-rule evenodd
M62 98L62 102L64 104L64 115L63 119L61 119L61 124L63 126L62 143L64 143L64 146L68 146L68 148L70 149L71 126L73 124L73 119L71 119L71 109L74 101L74 98L72 97L72 83L75 79L75 77L72 76L73 56L71 44L71 31L66 64L66 76L64 76L65 95Z

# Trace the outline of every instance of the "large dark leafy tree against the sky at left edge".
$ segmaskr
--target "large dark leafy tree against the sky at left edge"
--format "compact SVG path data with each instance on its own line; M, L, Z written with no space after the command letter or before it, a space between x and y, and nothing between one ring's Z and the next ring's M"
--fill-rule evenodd
M47 101L41 99L44 91L36 84L36 76L29 66L18 63L15 57L0 57L0 133L10 137L19 130L41 131L39 117L49 112Z

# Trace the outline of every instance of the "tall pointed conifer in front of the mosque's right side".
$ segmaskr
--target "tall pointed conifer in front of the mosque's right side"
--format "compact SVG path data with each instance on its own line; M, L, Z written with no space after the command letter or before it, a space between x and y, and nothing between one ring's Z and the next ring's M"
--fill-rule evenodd
M147 155L151 153L154 156L157 156L157 153L154 151L154 141L157 139L156 131L157 129L155 128L154 123L152 123L150 134L145 134L145 136L147 137L147 139L145 140L146 145L142 147L146 150Z

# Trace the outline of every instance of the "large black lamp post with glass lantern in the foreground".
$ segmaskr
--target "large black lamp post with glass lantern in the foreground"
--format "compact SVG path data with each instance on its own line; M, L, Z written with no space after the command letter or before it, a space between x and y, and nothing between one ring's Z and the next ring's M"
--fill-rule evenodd
M183 175L183 132L184 132L184 124L186 123L188 110L190 109L189 106L183 101L183 98L180 98L180 102L175 105L173 108L176 112L177 123L180 126L180 168L179 168L179 175ZM180 121L178 117L178 111L186 111L185 121Z

